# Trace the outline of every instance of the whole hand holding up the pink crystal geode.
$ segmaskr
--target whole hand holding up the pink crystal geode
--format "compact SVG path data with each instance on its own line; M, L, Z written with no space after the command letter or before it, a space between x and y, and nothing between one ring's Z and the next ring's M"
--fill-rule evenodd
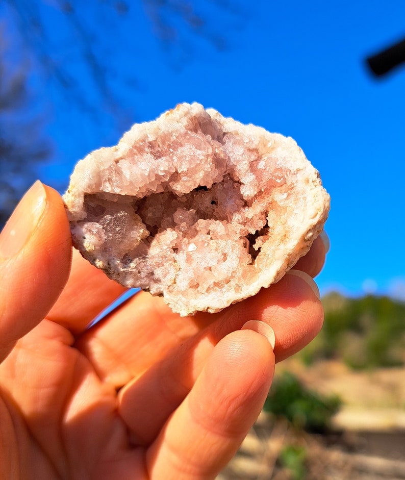
M75 250L70 271L71 251L62 199L37 182L0 236L0 478L214 478L275 360L321 327L311 277L185 318L140 292L88 328L125 289ZM315 275L324 257L318 238L295 268Z

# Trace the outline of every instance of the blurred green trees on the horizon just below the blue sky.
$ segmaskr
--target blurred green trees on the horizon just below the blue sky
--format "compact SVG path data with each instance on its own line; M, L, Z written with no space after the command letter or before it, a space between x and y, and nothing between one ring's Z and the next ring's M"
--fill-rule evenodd
M349 298L332 292L322 298L323 329L299 357L343 361L354 369L405 363L405 303L388 296Z

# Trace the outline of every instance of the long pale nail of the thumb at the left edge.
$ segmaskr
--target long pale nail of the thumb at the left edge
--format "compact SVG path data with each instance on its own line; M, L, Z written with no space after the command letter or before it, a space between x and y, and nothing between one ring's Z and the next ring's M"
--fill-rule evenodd
M0 234L0 257L16 255L27 244L46 206L46 192L37 180L21 198Z

